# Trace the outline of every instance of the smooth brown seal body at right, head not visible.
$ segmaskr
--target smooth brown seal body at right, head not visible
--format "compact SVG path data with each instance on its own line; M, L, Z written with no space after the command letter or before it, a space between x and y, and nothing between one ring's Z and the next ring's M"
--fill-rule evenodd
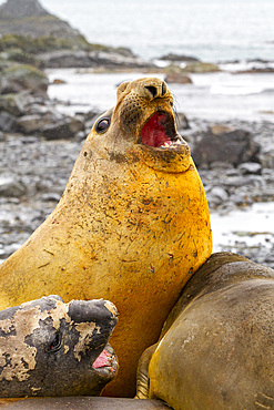
M273 409L273 363L274 270L214 254L142 356L138 397L174 410Z

